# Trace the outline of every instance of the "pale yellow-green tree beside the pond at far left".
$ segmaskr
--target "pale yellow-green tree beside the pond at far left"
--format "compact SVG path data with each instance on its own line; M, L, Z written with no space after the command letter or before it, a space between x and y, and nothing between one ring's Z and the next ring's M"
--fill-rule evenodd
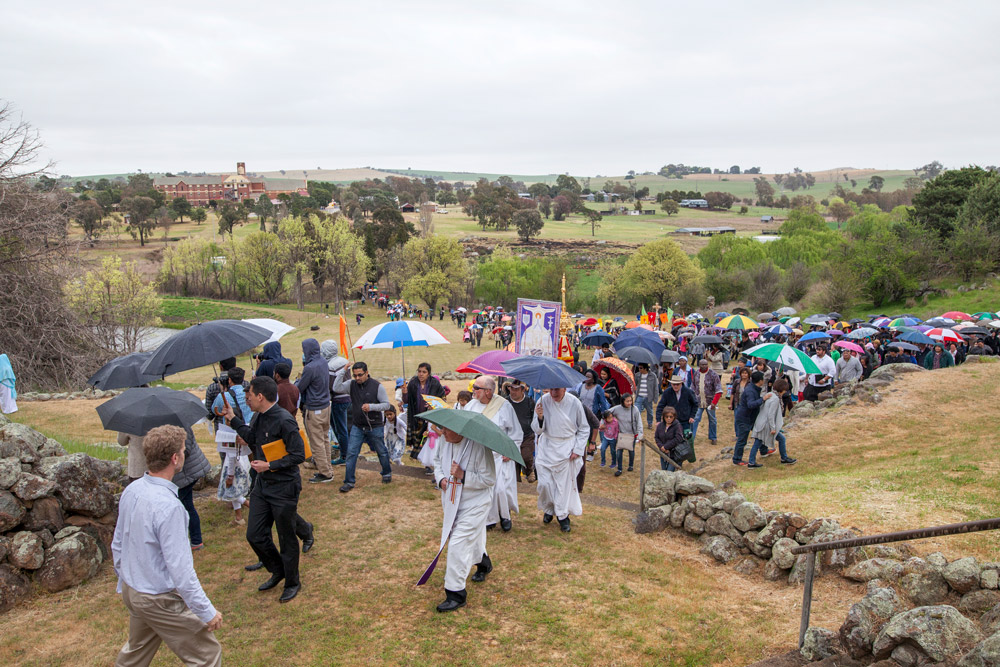
M105 257L99 268L71 280L66 296L100 346L114 354L135 352L145 332L160 323L156 290L134 262L120 257Z

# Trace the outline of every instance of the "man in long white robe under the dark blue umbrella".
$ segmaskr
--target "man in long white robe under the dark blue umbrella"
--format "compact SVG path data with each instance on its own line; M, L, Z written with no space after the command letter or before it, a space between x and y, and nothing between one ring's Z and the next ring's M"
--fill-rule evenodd
M583 454L590 425L580 399L564 388L542 396L531 420L535 432L535 472L538 475L538 509L543 523L555 516L559 528L570 531L569 515L583 514L576 476L583 467Z

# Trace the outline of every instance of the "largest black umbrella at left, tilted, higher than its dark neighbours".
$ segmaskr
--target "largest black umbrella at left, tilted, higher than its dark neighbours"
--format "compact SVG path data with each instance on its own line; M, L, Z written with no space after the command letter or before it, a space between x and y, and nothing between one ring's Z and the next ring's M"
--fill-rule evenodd
M270 337L264 327L241 320L202 322L168 338L142 372L163 376L201 368L252 350Z

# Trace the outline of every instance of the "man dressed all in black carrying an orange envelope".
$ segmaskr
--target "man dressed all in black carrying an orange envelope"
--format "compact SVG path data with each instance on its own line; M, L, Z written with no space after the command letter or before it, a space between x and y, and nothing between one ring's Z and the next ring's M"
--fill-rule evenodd
M247 404L256 415L247 425L237 417L232 406L227 406L224 417L229 425L249 445L253 453L250 463L257 479L250 492L250 514L247 518L247 542L271 578L258 590L266 591L285 581L280 602L288 602L298 595L299 541L295 536L295 517L302 480L299 464L305 461L305 445L299 435L299 426L287 410L277 404L278 385L262 376L250 383ZM285 444L285 456L267 461L262 446L275 440ZM279 553L271 538L271 527L278 530Z

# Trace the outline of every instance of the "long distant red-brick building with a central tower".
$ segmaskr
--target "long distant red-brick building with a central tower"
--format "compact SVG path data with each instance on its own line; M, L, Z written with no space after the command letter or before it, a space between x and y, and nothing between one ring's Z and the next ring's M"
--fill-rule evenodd
M246 164L236 163L235 174L209 176L160 176L153 187L167 200L187 199L193 206L207 206L210 201L243 201L259 199L267 193L272 199L280 194L308 194L305 180L294 178L248 177Z

